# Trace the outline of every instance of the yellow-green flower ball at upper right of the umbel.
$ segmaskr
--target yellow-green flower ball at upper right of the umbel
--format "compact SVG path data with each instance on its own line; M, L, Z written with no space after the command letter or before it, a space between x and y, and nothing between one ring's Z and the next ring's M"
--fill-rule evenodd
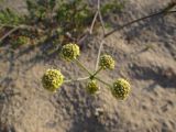
M114 68L114 61L110 55L102 55L100 57L99 66L103 69L113 69Z

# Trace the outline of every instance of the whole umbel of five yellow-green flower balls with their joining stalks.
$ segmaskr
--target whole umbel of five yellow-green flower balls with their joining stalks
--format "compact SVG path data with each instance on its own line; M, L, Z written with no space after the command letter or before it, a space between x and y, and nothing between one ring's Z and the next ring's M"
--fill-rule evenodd
M113 69L114 68L114 59L110 55L102 55L99 59L99 68L96 72L90 72L87 69L81 62L78 61L79 56L79 46L77 44L68 43L63 46L61 51L62 57L67 62L75 62L80 68L88 73L88 77L85 78L77 78L66 80L64 79L64 75L57 69L47 69L46 73L43 75L42 84L43 87L50 91L56 91L63 84L78 81L78 80L88 80L86 85L86 91L90 95L95 95L99 91L98 81L105 84L110 88L112 95L117 99L125 99L130 94L130 84L128 80L120 78L117 79L112 85L106 82L101 78L97 77L97 75L101 70L106 69Z

